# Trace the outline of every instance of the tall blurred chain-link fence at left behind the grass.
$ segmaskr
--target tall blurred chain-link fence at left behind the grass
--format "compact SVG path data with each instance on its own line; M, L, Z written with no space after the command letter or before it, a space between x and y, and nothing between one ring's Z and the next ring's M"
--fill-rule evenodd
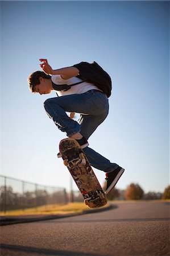
M47 187L0 175L1 211L26 209L49 204L67 204L65 188Z

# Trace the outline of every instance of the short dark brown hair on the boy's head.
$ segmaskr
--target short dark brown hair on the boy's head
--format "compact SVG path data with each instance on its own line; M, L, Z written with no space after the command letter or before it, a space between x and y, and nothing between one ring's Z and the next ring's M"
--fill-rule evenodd
M34 86L40 84L40 77L43 77L44 79L51 79L51 76L45 74L43 71L35 71L31 73L28 77L28 86L31 92L35 92Z

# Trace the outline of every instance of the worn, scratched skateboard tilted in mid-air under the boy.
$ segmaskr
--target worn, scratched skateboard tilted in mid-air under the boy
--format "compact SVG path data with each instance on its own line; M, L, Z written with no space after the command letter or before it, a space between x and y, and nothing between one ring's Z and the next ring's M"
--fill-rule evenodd
M84 203L90 208L98 208L105 205L107 203L105 192L103 192L78 142L72 138L62 139L59 144L59 150L64 160L64 165L67 166L81 195L84 197Z

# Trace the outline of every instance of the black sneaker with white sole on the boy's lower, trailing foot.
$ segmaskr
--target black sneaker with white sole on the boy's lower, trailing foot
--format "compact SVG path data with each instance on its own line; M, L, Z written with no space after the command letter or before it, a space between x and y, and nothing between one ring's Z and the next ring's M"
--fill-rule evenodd
M109 172L106 174L106 181L107 181L107 186L106 186L106 191L105 193L109 193L111 189L114 188L115 184L117 184L118 180L122 176L123 172L125 170L122 167L116 168L113 172Z

